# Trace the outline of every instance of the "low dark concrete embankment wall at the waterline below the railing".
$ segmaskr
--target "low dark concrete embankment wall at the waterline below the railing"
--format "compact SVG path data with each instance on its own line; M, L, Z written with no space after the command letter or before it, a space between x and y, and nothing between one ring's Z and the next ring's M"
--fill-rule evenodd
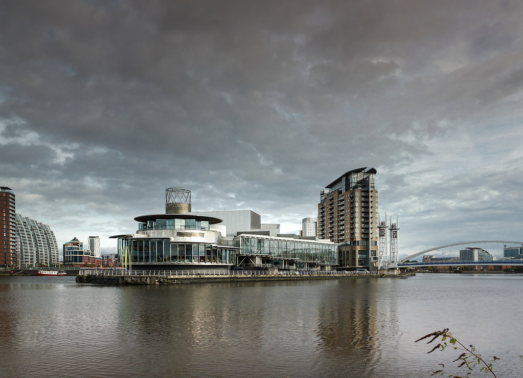
M408 275L413 275L409 273ZM161 284L192 284L220 282L252 282L252 281L301 281L301 280L339 280L383 277L379 274L347 274L347 275L220 275L220 276L158 276L158 275L78 275L78 283L96 283L109 285L161 285ZM388 275L389 276L389 275ZM390 275L399 277L399 275ZM406 275L402 275L406 276Z

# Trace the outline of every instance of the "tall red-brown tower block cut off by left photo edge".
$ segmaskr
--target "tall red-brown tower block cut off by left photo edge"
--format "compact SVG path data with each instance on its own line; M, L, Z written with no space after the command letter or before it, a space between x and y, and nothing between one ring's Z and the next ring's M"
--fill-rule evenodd
M15 193L0 186L0 268L18 266Z

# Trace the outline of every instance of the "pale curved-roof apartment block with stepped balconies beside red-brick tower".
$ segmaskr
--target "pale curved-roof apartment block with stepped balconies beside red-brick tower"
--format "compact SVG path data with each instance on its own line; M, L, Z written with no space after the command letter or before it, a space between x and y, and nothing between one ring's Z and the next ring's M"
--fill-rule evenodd
M18 266L56 266L60 263L58 244L48 225L16 214Z

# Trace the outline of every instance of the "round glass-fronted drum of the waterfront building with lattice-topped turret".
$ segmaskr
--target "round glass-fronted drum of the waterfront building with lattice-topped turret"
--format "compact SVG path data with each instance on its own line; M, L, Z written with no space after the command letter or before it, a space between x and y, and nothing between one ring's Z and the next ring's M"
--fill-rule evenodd
M221 219L192 214L191 194L185 188L165 190L165 214L135 217L134 234L115 235L119 261L131 269L228 270L235 264L235 248L221 246ZM251 214L244 214L250 221Z

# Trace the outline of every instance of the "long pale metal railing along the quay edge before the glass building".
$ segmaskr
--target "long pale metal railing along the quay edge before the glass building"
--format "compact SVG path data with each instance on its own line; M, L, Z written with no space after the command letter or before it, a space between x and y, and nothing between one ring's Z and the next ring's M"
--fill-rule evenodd
M80 269L79 275L101 275L101 276L186 276L186 277L201 277L201 276L297 276L297 275L315 275L315 276L347 276L347 275L362 275L362 274L378 274L378 272L362 272L362 271L325 271L325 270L309 270L309 271L256 271L256 270L127 270L127 269Z

